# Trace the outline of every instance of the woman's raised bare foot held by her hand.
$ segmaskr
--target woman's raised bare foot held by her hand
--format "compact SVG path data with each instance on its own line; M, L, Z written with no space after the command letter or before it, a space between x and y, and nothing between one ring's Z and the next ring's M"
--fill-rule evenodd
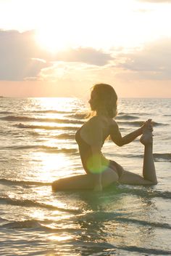
M143 135L140 138L140 142L143 145L150 145L153 143L153 134L152 134L152 126L151 119L146 121L146 124L143 127Z

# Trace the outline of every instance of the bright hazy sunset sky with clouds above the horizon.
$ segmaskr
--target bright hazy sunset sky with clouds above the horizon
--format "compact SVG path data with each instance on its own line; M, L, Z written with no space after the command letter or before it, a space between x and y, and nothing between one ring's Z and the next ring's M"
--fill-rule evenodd
M171 97L171 0L0 0L0 96Z

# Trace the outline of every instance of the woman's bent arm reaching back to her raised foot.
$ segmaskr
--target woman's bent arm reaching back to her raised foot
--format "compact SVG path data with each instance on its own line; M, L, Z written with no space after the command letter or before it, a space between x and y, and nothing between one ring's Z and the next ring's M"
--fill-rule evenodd
M131 143L133 140L135 140L136 137L142 135L142 133L143 126L139 129L136 129L134 132L130 132L128 135L122 137L118 124L116 121L114 121L110 130L110 137L115 144L121 147L122 145Z

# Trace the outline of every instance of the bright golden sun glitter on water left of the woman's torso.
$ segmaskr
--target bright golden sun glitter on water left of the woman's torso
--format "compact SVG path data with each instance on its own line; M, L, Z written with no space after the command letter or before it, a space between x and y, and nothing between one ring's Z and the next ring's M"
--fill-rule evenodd
M54 178L63 177L65 172L70 175L73 163L67 153L75 153L77 149L73 141L67 140L68 137L64 137L64 134L70 132L73 135L80 124L70 123L70 120L67 122L68 117L64 115L78 109L78 100L68 97L30 98L27 104L28 111L31 109L34 119L38 119L32 121L32 126L28 122L28 128L32 129L32 133L29 132L28 145L33 146L33 150L26 157L33 169L33 177L49 182ZM63 135L64 139L60 135ZM28 171L30 176L31 172Z

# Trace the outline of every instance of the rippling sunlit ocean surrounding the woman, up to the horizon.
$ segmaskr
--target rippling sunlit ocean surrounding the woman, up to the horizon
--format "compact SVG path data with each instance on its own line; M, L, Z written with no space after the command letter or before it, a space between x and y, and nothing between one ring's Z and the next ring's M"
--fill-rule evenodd
M0 255L171 255L171 99L120 99L122 135L154 121L158 184L114 184L100 193L51 191L83 174L75 131L88 105L78 98L0 98ZM104 155L141 174L143 145Z

